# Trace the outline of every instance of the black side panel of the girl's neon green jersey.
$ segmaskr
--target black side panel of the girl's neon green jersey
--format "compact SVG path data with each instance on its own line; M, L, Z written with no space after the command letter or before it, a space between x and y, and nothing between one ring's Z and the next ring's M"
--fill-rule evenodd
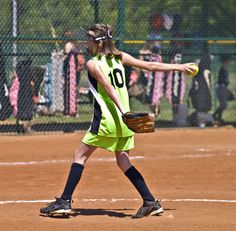
M89 78L89 82L93 85L94 89L96 89L97 91L97 80L94 79L92 77L92 75L88 72L88 78ZM90 132L98 134L98 130L100 127L100 123L101 123L101 119L102 119L102 110L101 107L99 105L99 103L97 102L97 100L94 97L94 113L93 113L93 120L91 122L91 126L90 126Z

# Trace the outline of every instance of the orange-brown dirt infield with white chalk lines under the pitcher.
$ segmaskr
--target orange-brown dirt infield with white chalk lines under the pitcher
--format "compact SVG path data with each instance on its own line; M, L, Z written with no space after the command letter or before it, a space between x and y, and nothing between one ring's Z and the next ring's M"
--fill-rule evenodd
M74 194L69 219L39 215L59 196L83 133L0 136L0 230L236 230L236 129L160 129L136 136L133 164L162 216L130 218L142 201L111 152L97 150Z

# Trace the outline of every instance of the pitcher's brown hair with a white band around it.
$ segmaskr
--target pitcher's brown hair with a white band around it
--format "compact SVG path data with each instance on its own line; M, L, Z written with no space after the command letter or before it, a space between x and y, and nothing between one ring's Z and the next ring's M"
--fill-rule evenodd
M92 31L94 34L90 34ZM102 47L98 56L106 56L107 58L121 58L121 52L114 46L112 42L112 27L106 24L94 24L87 29L87 35L92 36L95 42L102 41Z

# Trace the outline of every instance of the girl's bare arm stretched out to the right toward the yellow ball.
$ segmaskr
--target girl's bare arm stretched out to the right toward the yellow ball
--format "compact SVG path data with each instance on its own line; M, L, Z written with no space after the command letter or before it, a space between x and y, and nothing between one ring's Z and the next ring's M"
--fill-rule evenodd
M122 52L122 63L132 67L145 69L147 71L181 71L185 73L193 73L194 68L191 66L193 63L185 64L171 64L171 63L158 63L148 62L136 59L133 56Z

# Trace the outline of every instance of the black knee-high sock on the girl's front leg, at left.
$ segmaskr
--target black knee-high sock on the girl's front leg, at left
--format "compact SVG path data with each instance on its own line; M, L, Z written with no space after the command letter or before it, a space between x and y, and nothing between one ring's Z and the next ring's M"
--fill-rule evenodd
M71 200L72 194L80 181L84 166L82 164L73 163L61 198Z

